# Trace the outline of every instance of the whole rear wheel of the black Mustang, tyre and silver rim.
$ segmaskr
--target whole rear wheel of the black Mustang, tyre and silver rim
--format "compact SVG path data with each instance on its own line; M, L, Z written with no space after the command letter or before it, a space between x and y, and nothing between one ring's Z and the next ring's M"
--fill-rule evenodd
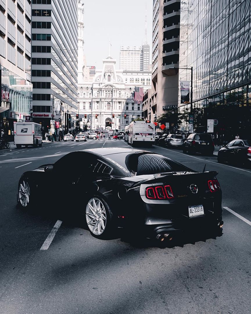
M100 196L93 195L85 209L85 220L92 236L107 239L115 231L111 208Z

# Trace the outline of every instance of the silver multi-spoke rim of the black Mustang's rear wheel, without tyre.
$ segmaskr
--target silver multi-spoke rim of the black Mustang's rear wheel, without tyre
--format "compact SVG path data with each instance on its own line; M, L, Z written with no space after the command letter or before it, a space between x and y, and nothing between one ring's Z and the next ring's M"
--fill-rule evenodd
M106 226L106 211L104 204L98 198L91 198L86 206L86 222L90 231L101 235Z

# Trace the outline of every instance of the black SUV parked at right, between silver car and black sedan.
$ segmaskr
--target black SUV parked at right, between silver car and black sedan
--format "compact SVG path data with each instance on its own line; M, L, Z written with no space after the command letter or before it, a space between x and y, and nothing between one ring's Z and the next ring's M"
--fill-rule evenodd
M210 134L192 133L184 141L183 153L201 153L213 156L214 142Z

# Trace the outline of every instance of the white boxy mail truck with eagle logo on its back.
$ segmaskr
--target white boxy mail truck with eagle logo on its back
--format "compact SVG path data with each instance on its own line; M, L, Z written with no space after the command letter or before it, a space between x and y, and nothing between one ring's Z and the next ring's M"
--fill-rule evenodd
M42 146L41 125L35 122L14 122L14 144L23 146Z

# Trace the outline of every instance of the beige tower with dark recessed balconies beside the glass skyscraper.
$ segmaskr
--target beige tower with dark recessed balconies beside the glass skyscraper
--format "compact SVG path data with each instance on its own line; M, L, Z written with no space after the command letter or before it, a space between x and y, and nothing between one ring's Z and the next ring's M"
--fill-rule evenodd
M178 107L180 0L153 1L152 120Z

